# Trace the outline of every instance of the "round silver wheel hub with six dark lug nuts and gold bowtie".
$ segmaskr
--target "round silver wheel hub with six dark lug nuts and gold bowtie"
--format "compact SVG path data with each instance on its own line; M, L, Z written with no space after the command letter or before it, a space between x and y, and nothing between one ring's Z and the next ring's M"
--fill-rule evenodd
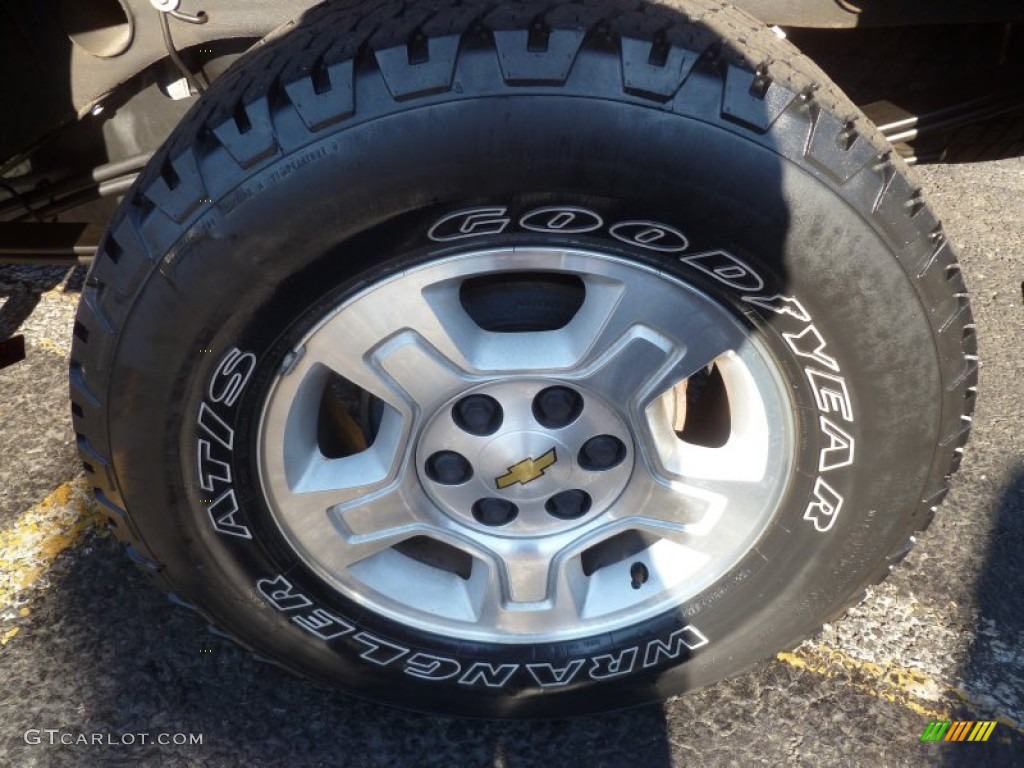
M417 446L427 496L458 522L550 536L602 514L633 467L633 439L601 397L569 383L494 381L433 415Z

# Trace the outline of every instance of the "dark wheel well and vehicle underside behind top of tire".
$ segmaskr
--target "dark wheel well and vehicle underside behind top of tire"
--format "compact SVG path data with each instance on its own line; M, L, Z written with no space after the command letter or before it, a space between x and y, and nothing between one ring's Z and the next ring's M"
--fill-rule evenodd
M103 226L115 198L195 101L182 68L216 79L261 39L287 32L312 0L186 0L169 19L150 0L0 5L0 78L12 110L0 132L0 222ZM1024 154L1024 5L965 0L737 0L787 34L911 162ZM923 12L927 5L927 14ZM898 6L898 7L896 7ZM927 24L924 22L927 20ZM938 24L945 22L945 24ZM952 24L951 22L956 22ZM970 22L970 24L968 24ZM1017 24L1014 24L1017 22ZM908 26L909 25L909 26ZM138 161L125 173L110 177ZM106 174L105 181L97 174ZM63 186L61 186L63 185ZM61 190L74 187L74 196ZM58 195L58 193L61 193ZM33 213L27 210L31 207Z

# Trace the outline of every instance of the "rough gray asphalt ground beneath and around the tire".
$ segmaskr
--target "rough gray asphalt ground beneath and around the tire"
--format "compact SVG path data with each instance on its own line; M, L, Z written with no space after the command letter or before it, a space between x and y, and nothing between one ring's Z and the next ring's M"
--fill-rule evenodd
M572 721L431 718L323 692L210 635L86 523L54 539L54 507L89 519L74 494L26 522L78 473L65 382L81 274L0 268L0 334L19 326L30 346L0 373L0 765L1024 764L1024 160L921 175L959 246L983 359L974 436L935 523L795 653L664 707ZM11 573L31 563L11 552L36 540L45 567L27 586ZM1000 724L984 744L920 742L946 718ZM27 743L28 729L118 743ZM152 743L161 733L202 744Z

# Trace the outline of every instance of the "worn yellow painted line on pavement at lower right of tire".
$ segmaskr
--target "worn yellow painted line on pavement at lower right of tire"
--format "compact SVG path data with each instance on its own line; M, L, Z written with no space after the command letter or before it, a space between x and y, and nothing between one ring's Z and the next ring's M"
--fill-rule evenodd
M939 709L943 700L959 699L973 711L980 709L961 689L935 680L921 670L865 662L827 645L804 643L796 651L782 652L776 657L799 670L840 678L854 690L905 707L930 720L955 720L948 709ZM1007 718L996 720L1024 734L1019 724Z

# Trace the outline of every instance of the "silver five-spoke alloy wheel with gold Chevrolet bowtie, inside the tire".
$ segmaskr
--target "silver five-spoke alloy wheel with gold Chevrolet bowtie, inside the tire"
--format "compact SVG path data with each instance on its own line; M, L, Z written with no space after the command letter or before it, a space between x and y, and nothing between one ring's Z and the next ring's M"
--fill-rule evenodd
M510 265L570 285L564 322L481 321L467 290ZM295 345L260 481L302 561L367 609L567 640L677 607L750 552L788 484L791 413L765 346L692 286L591 251L476 251L361 290Z

